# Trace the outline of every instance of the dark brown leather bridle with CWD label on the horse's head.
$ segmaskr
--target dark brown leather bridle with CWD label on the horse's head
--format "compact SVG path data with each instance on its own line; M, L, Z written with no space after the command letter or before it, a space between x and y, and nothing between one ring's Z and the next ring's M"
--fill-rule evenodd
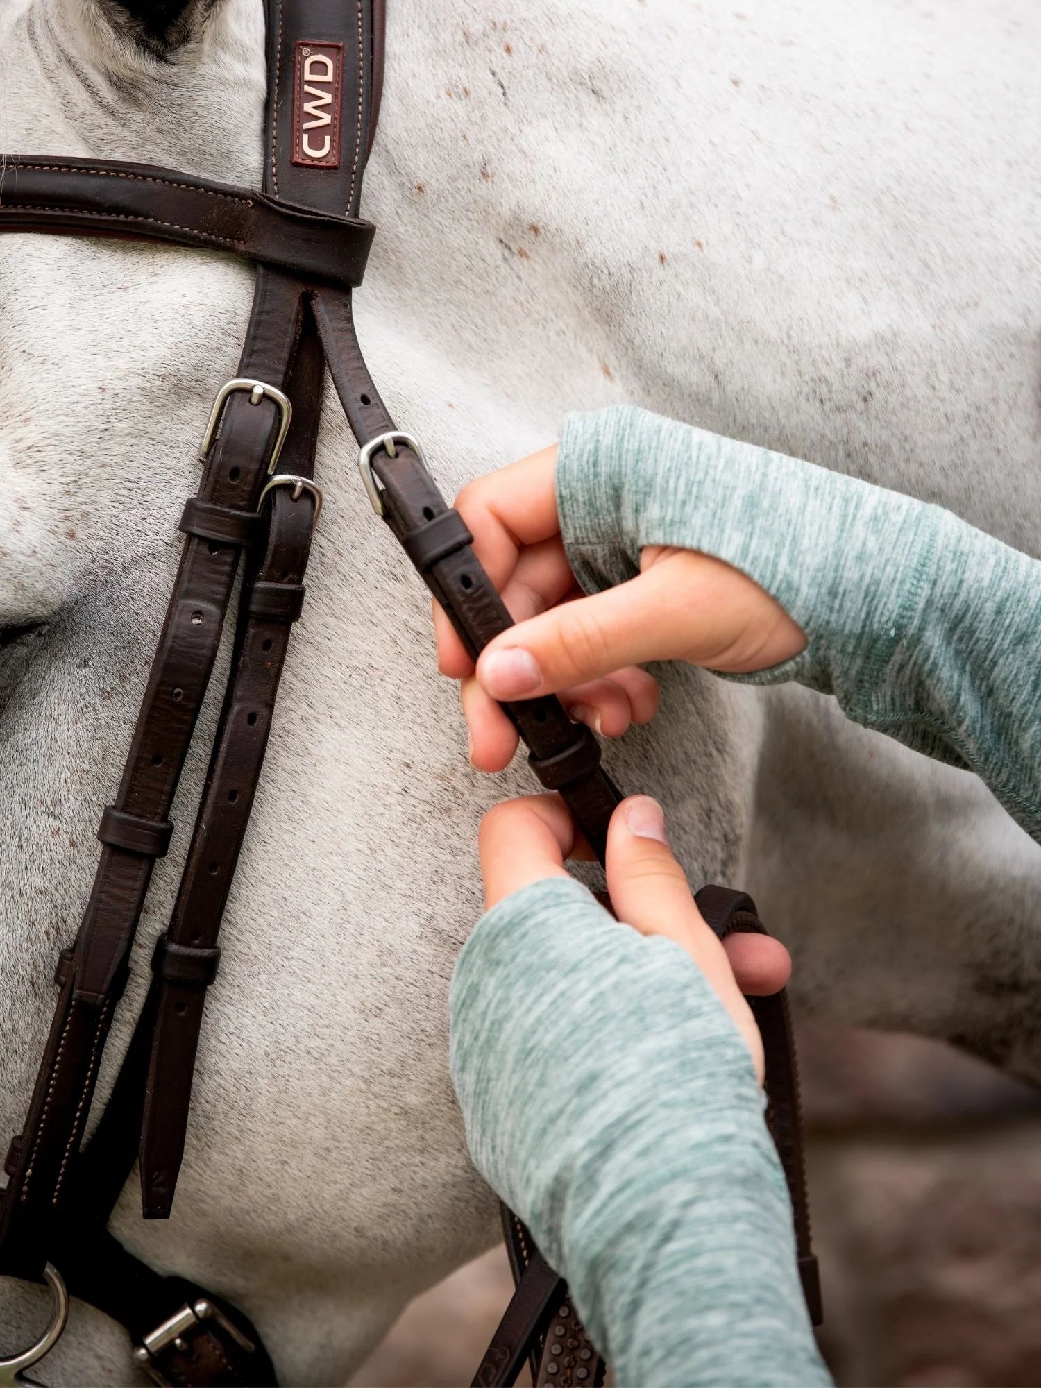
M373 509L468 651L476 657L511 625L462 518L439 493L416 440L396 428L383 405L354 332L351 290L361 283L373 236L357 214L379 114L383 0L266 0L266 18L261 193L149 165L51 155L0 161L0 232L218 247L257 266L239 373L218 391L205 429L201 483L180 518L180 566L119 791L97 831L103 848L93 891L75 942L58 959L54 1022L25 1126L7 1156L0 1274L46 1280L54 1316L37 1345L0 1360L0 1384L15 1381L53 1345L69 1292L126 1327L136 1360L160 1384L275 1382L271 1359L242 1312L185 1278L153 1271L107 1226L135 1159L144 1217L171 1212L205 990L221 955L221 919L305 594L322 501L314 458L326 365L361 450ZM333 153L318 158L307 153L314 142L301 146L300 56L311 46L332 54L328 71L341 64ZM157 941L151 984L115 1088L82 1145L112 1010L126 984L153 865L169 845L174 793L240 566L232 673L171 923ZM507 712L529 747L533 772L545 788L559 791L602 859L608 820L622 794L601 766L595 737L572 723L555 698L509 704ZM720 937L762 930L754 904L740 892L704 887L697 901ZM766 1045L768 1122L791 1192L799 1271L818 1323L787 1005L783 994L751 1002ZM516 1292L475 1382L512 1384L530 1355L536 1384L600 1384L602 1360L586 1339L566 1285L516 1216L504 1212L504 1226Z

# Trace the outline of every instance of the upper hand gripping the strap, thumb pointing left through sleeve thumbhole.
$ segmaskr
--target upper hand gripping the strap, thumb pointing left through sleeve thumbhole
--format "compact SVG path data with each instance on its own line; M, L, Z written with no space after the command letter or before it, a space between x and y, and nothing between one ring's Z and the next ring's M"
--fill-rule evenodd
M573 719L605 737L650 722L658 686L643 661L688 661L713 670L765 670L806 637L747 575L706 554L648 545L640 576L583 597L557 516L557 448L544 448L462 490L457 507L516 626L482 651L476 672L434 604L443 675L462 682L471 761L508 765L518 734L498 700L558 694Z

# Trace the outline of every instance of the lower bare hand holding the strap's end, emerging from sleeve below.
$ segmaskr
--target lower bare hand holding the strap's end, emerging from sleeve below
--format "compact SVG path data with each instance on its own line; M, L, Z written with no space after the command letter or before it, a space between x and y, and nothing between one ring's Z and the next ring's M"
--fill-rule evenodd
M566 877L566 858L591 856L559 795L527 795L496 805L480 826L484 905L490 909L545 877ZM731 934L720 944L694 904L668 845L661 805L650 795L630 795L611 816L605 866L618 919L644 936L665 936L683 945L734 1019L762 1084L762 1038L741 994L780 991L791 973L788 951L779 940L759 934Z

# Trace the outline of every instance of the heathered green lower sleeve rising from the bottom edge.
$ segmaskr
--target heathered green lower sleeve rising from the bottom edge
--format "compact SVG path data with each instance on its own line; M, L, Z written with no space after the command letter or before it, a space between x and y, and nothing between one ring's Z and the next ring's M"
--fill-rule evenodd
M830 1382L751 1058L686 951L526 887L459 955L451 1066L476 1166L622 1388Z

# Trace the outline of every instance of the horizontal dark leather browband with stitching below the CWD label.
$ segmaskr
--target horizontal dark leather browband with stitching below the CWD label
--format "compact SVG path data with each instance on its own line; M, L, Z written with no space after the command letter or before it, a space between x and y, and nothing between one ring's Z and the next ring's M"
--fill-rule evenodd
M150 164L8 154L0 232L129 236L233 251L333 285L361 285L375 228L253 189Z

